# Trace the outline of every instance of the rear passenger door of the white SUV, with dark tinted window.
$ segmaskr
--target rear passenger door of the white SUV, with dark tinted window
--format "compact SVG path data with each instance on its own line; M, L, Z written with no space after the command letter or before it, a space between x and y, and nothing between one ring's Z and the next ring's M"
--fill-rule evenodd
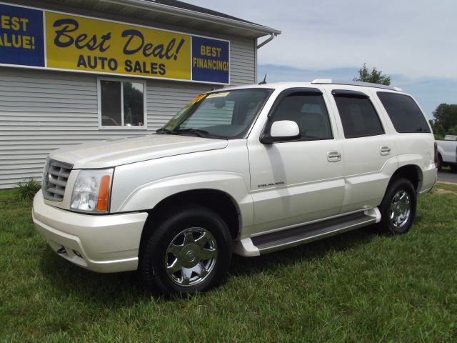
M341 87L341 86L340 86ZM331 103L337 116L344 156L346 194L342 213L376 207L381 203L391 175L398 167L388 125L361 89L332 86Z

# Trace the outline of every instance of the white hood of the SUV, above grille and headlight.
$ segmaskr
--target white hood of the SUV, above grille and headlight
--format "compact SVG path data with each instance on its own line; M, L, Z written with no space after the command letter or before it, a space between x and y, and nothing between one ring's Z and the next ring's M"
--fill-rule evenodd
M150 134L95 141L51 152L51 159L74 165L74 169L107 168L166 156L224 149L224 139Z

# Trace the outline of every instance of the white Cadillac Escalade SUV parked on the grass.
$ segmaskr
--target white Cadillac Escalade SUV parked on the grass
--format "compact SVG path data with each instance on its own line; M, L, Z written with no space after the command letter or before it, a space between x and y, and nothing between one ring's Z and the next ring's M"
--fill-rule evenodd
M148 136L49 154L34 199L57 254L204 292L232 252L258 256L378 223L407 232L436 147L401 89L331 80L201 94Z

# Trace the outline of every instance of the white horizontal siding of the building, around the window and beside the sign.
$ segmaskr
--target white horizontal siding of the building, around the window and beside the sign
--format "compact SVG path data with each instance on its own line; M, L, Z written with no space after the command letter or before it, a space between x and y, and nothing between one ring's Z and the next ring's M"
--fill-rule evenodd
M231 41L231 84L253 83L254 43ZM29 177L40 181L46 155L62 146L151 133L213 87L149 79L148 130L99 129L96 82L96 74L0 66L0 189Z

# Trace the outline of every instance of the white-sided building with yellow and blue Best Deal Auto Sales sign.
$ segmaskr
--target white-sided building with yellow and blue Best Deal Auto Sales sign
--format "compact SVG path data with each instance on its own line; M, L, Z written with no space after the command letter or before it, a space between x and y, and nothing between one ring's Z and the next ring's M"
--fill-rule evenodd
M0 188L40 180L61 146L149 134L201 92L256 82L280 33L174 0L0 2Z

